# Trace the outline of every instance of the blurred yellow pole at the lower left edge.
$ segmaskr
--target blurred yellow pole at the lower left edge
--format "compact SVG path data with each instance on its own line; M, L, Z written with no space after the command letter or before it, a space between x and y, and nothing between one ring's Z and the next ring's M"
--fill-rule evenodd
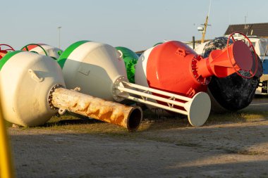
M1 111L0 104L0 177L13 178L13 163L11 160L11 150L9 148L8 135L6 125Z

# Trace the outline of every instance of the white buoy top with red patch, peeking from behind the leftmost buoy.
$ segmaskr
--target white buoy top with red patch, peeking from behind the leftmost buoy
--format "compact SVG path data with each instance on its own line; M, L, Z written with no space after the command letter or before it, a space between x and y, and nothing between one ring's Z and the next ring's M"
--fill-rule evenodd
M63 52L62 49L59 49L55 46L50 46L48 44L30 44L26 47L23 48L23 51L34 51L42 55L46 55L47 53L47 56L50 56L54 59L58 59L61 53Z

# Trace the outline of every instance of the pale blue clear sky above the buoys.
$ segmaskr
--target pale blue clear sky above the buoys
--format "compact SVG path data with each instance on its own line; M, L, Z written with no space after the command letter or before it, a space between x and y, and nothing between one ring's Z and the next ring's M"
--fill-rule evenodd
M20 49L45 43L61 49L88 39L133 51L164 39L200 39L209 0L75 0L1 2L0 43ZM229 24L268 23L267 0L212 0L206 38L224 34Z

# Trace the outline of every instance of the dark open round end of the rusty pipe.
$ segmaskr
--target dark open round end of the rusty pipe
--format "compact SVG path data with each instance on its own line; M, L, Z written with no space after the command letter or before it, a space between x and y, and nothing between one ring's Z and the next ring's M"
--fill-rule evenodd
M134 106L128 115L127 128L129 132L134 132L140 127L142 122L142 109L139 106Z

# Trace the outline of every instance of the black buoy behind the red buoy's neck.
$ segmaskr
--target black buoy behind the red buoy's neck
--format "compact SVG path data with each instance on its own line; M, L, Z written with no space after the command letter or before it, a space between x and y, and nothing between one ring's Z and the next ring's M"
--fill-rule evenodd
M202 51L202 56L207 58L209 53L215 49L224 49L226 47L228 38L219 37L213 39L205 44ZM255 55L252 55L255 58ZM208 93L212 100L212 111L236 111L247 107L258 87L260 76L262 75L262 62L258 58L258 68L256 75L250 79L240 77L233 73L228 77L218 78L212 76L212 80L208 86ZM252 68L255 68L255 64ZM243 76L249 76L250 73L240 70L238 71Z

